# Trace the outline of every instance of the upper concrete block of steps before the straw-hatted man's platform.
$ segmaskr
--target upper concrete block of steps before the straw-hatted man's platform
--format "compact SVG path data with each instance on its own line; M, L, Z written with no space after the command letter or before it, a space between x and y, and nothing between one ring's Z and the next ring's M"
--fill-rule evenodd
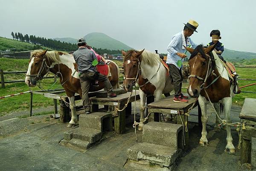
M148 122L143 127L143 142L183 149L182 125Z

